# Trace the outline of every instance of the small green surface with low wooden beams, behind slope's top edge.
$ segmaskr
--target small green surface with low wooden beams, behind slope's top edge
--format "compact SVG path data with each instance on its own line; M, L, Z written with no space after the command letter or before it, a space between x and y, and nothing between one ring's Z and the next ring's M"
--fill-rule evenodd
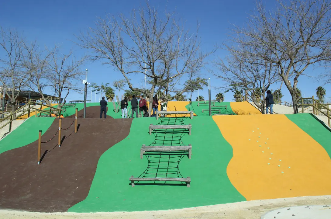
M208 111L209 105L200 105L198 107L198 103L205 103L205 101L202 101L202 102L201 101L200 102L193 101L191 106L190 106L190 104L188 104L185 107L188 110L193 110L194 113L197 116L209 116L209 111ZM215 106L226 106L226 109L225 109L225 107L221 107L221 108L212 107L212 109L220 109L221 110L221 114L234 114L235 115L235 113L231 109L230 102L221 102L221 103L215 102ZM202 112L203 109L205 109L207 111ZM218 114L219 112L212 112L212 115L214 113L217 113Z

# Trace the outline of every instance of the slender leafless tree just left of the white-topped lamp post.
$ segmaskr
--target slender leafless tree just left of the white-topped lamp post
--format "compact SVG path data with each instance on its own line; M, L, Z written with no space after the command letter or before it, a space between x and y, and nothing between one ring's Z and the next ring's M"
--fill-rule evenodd
M57 49L56 49L57 50ZM59 54L55 50L49 51L47 62L47 87L54 89L58 97L58 109L66 103L70 91L82 92L81 79L84 71L80 69L86 57L76 59L70 50L67 54ZM61 103L61 98L63 102Z

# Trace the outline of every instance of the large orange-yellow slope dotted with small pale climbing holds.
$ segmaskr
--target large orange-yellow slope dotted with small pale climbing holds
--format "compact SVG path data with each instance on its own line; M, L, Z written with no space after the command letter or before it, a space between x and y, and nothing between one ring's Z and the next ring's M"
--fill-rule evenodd
M227 175L247 200L331 194L330 157L285 115L213 120L233 148Z

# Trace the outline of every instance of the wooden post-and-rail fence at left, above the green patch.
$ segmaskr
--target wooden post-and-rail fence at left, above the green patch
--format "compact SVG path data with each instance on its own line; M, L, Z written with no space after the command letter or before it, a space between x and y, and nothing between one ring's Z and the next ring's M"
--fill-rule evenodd
M26 105L28 105L27 108ZM48 105L45 105L45 104L42 104L42 103L38 103L38 102L34 102L34 101L29 101L27 102L27 104L18 108L17 110L15 110L14 112L10 113L10 114L6 114L7 112L11 112L11 111L0 111L1 114L5 115L3 119L0 119L0 122L3 122L3 121L6 121L1 127L0 127L0 130L2 128L4 128L5 126L7 126L9 124L9 132L12 131L12 122L14 120L16 120L17 118L25 115L27 113L27 118L30 117L30 113L31 112L35 112L35 117L40 117L41 116L41 113L45 113L45 114L48 114L50 117L51 115L55 115L55 116L61 116L61 109L58 109L58 108L55 108L55 107L52 107L52 106L48 106ZM34 108L36 106L40 106L40 109L38 108ZM46 106L49 109L49 111L46 111L46 110L42 110L42 106ZM24 109L25 108L25 109ZM38 112L39 112L39 115L38 115ZM14 119L14 115L16 115L16 118Z

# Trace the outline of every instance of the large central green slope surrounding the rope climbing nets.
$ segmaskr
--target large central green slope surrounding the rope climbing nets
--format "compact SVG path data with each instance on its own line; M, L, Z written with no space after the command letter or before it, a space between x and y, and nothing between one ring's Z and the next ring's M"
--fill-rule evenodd
M192 124L192 135L185 134L182 141L186 145L192 144L193 155L191 160L184 156L179 170L183 177L191 177L190 188L131 187L129 177L138 177L147 167L146 157L140 159L139 154L142 144L149 145L155 139L153 134L148 134L148 126L152 123L157 124L157 120L133 120L129 136L101 156L87 198L71 207L69 212L166 210L246 200L227 177L232 147L222 137L212 117L185 120L185 124Z

